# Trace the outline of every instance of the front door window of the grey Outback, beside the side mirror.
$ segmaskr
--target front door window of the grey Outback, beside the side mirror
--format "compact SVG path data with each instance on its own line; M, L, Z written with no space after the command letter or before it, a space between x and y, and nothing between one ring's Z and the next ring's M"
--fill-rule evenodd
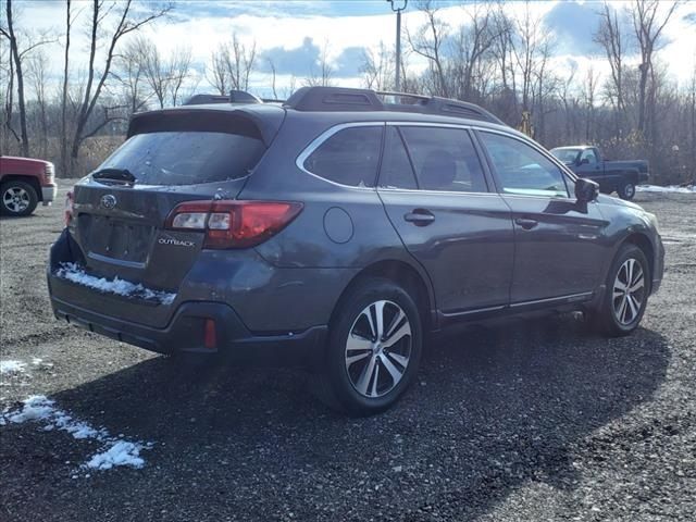
M568 197L560 169L519 139L481 133L502 190L527 196Z

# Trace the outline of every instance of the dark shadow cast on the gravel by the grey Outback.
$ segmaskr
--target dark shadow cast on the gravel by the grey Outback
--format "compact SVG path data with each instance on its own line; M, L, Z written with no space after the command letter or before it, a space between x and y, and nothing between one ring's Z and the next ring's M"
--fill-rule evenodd
M299 520L376 512L469 520L530 481L573 488L574 451L650 399L669 356L655 332L606 339L563 315L472 327L434 344L410 393L368 419L325 409L301 371L187 372L165 358L53 398L112 433L156 443L145 469L110 472L91 488L95 497L127 474L119 487L152 509L167 498L192 508L196 495L166 489L192 482L201 492L210 486L212 506L243 510L246 520L288 511Z

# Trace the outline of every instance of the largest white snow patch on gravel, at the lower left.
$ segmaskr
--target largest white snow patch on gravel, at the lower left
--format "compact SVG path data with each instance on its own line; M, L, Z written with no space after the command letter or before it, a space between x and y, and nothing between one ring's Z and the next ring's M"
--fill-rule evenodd
M112 437L109 432L99 430L88 423L74 419L67 412L55 408L55 401L44 395L34 395L24 401L21 410L5 411L0 414L0 426L8 423L20 424L23 422L45 422L44 431L60 430L70 433L74 438L91 438L103 443L102 451L94 455L85 464L85 468L97 470L110 470L119 465L142 468L145 460L140 457L141 449L148 449L152 443L142 444Z

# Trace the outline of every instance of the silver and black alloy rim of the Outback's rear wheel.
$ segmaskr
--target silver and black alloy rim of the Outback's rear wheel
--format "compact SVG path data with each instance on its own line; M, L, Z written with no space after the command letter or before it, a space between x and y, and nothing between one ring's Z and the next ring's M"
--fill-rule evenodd
M366 306L346 340L346 372L363 397L382 397L401 381L411 360L411 323L401 307L380 300Z

